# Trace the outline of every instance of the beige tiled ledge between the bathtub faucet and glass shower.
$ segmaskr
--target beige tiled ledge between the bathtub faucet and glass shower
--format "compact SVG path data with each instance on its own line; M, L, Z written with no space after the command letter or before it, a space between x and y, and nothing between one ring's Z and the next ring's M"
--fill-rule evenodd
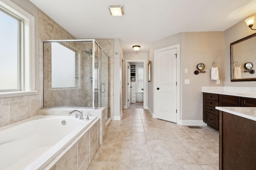
M94 117L100 118L100 144L102 144L103 140L105 139L105 132L106 132L106 108L105 107L98 107L96 109L84 109L84 108L75 108L75 109L60 109L60 108L44 108L38 111L38 115L52 115L52 116L66 116L72 110L79 110L83 112L84 117L86 115L92 115ZM75 114L71 114L70 116L74 117Z

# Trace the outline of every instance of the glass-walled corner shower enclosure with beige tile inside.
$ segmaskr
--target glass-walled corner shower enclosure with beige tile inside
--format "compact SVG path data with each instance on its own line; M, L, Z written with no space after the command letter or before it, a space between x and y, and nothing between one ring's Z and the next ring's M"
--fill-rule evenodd
M109 57L94 39L43 42L43 107L106 107Z

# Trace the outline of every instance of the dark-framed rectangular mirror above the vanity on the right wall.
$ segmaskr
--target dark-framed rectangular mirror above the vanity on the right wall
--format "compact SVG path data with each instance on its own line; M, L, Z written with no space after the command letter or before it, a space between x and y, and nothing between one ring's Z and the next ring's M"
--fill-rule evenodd
M256 81L255 74L244 72L252 69L253 63L256 63L256 33L230 44L230 60L232 82ZM241 66L234 63L241 63Z

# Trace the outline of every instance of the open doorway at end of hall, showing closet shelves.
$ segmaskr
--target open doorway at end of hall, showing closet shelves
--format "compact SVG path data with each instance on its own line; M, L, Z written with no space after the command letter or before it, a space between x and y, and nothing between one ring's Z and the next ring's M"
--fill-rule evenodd
M124 108L146 109L146 61L126 61Z

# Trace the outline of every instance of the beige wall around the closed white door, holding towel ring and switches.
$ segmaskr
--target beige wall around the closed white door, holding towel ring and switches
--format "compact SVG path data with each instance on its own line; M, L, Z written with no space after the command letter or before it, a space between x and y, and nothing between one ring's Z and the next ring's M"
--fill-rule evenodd
M202 121L202 86L224 85L224 32L186 32L172 35L152 44L148 59L152 61L152 82L148 82L148 108L153 112L154 50L180 44L180 111L182 121ZM211 80L211 61L218 63L220 85ZM206 73L194 74L199 63ZM188 68L188 74L184 69ZM184 84L190 79L190 84ZM182 123L182 122L181 122Z

